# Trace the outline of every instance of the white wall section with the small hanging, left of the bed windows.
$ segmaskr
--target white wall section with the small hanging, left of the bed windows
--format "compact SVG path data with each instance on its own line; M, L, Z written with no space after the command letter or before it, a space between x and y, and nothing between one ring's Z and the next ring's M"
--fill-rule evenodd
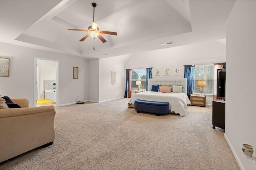
M116 72L116 84L111 84L111 71ZM99 101L113 100L124 97L124 61L122 57L100 59Z

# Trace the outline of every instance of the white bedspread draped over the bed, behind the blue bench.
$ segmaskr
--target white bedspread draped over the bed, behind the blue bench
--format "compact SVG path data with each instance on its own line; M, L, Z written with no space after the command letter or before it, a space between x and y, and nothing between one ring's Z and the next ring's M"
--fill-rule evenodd
M185 109L188 108L187 105L191 104L188 96L185 93L162 93L162 92L141 92L134 94L130 100L129 104L134 104L136 99L149 100L155 102L169 102L169 110L175 113L179 113L180 116L185 116Z

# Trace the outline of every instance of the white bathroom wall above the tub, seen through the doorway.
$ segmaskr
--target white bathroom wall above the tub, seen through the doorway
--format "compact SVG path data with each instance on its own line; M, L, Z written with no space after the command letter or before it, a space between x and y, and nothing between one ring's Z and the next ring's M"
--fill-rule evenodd
M38 98L44 98L44 80L57 80L56 71L57 64L54 61L37 60L37 67L39 67L39 80L37 82L40 87L40 96Z

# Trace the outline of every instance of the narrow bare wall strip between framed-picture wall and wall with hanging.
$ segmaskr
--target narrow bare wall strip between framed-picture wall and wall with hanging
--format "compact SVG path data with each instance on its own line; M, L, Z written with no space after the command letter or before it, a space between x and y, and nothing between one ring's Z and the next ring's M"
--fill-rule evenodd
M99 74L100 61L92 59L89 61L89 98L92 102L99 102Z

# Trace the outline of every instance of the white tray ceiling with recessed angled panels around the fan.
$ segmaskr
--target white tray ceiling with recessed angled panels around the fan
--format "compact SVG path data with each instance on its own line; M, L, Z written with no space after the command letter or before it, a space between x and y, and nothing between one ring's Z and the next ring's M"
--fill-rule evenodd
M88 37L94 21L106 43ZM0 41L85 59L129 55L214 40L225 42L235 0L1 0ZM171 45L160 45L173 41ZM108 55L104 55L108 54Z

